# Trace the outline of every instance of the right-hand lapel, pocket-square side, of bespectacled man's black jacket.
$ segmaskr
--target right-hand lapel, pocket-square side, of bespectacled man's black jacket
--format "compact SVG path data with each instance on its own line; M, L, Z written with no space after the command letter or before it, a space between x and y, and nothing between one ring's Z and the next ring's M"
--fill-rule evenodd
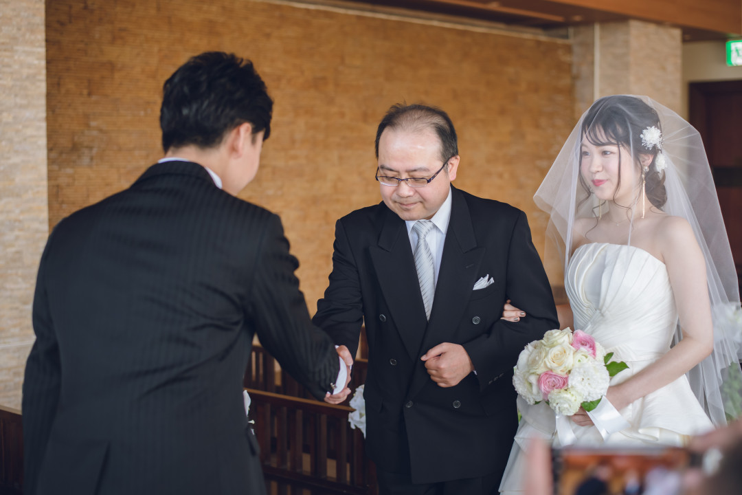
M479 266L485 256L485 248L476 245L464 195L455 188L452 188L451 195L451 219L443 245L436 295L433 298L430 322L422 339L421 353L427 352L441 342L450 341L451 332L461 324L464 309L479 275ZM414 396L428 380L430 376L427 373L417 373L410 387L410 396Z

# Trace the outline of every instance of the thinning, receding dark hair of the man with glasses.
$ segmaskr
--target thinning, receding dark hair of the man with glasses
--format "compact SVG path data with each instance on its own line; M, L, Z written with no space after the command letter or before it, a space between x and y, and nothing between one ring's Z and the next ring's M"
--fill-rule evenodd
M386 128L412 132L432 129L441 141L441 161L447 161L459 154L456 129L453 128L453 122L448 114L440 108L417 103L392 105L376 130L376 158L378 158L378 142L381 140L381 133Z

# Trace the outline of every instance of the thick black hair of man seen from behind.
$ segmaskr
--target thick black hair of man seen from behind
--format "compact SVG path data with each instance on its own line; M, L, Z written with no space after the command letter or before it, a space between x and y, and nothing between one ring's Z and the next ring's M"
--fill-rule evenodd
M271 133L273 100L252 62L232 53L192 57L162 86L162 148L212 148L227 132L249 122L253 135Z

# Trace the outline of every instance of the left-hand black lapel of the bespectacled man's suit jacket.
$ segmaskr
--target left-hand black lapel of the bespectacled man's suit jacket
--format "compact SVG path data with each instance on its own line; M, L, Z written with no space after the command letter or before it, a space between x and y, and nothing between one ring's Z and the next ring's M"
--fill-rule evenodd
M404 220L386 209L378 245L370 247L381 293L410 359L418 358L427 321Z

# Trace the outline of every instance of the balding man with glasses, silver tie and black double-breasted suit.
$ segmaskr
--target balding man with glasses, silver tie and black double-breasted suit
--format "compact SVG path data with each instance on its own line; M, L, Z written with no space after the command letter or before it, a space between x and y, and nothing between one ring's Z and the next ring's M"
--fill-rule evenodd
M450 185L456 131L437 108L390 108L376 156L383 202L338 220L313 321L353 355L366 325L382 495L496 493L518 422L513 366L559 328L528 221ZM528 318L500 319L508 299Z

